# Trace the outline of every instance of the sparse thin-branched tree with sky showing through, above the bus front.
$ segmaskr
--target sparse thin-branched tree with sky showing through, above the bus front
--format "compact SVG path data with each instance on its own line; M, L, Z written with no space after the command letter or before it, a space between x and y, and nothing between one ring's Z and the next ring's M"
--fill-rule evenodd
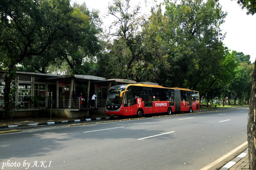
M140 16L140 6L132 7L130 0L114 0L109 6L109 15L115 17L108 33L109 43L106 48L110 51L110 61L119 64L119 69L112 70L113 76L136 80L134 67L140 58L141 35L140 26L144 23L144 17ZM121 70L120 70L121 66ZM118 71L121 71L120 74Z

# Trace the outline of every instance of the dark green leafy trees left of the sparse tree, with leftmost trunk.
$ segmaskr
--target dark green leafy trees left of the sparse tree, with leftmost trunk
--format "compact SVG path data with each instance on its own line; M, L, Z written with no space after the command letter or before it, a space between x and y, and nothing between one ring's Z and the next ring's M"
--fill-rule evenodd
M7 93L17 64L22 70L46 73L50 65L65 60L72 71L100 49L98 12L90 12L85 4L72 8L68 0L3 0L0 7L0 63L6 70L7 112L12 110Z

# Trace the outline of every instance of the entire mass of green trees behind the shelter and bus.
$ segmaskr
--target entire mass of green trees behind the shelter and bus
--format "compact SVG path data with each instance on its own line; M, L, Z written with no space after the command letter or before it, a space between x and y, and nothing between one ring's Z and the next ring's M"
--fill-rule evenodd
M156 82L248 101L250 56L223 46L226 13L215 0L164 1L140 14L130 0L114 0L115 18L103 35L99 11L68 0L0 2L0 66L10 94L16 69ZM11 96L5 95L11 110ZM235 100L236 101L236 100ZM8 104L9 102L9 104Z

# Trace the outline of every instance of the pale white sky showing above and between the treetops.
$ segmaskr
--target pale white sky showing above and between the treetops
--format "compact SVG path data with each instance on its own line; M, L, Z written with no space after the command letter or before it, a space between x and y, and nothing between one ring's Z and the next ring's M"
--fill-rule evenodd
M131 0L131 4L137 5L140 3L141 13L150 14L151 6L154 0L145 1ZM110 26L112 18L106 17L108 5L112 0L72 0L71 3L77 2L87 4L89 10L95 9L100 11L100 17L104 23L103 28ZM163 0L157 0L161 3ZM222 6L222 11L227 12L225 22L220 26L222 33L225 34L223 43L230 51L243 52L245 55L250 55L250 61L254 62L256 58L256 14L246 15L246 9L242 10L237 4L237 1L219 0Z

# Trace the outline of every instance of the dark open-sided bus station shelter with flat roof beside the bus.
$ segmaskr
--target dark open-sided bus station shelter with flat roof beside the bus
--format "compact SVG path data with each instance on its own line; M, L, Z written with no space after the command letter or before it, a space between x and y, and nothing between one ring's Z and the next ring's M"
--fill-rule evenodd
M51 112L56 116L80 117L90 112L104 114L109 89L118 84L134 84L126 79L105 79L89 75L49 75L34 72L16 72L13 82L14 116ZM4 108L4 71L0 71L0 109ZM82 93L83 101L79 98ZM97 95L91 107L93 93Z

